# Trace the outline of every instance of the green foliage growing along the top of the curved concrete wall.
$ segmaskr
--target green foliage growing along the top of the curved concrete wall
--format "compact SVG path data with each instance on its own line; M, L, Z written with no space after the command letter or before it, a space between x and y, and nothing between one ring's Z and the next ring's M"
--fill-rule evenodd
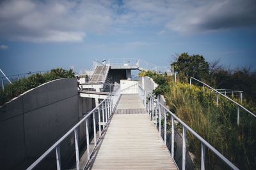
M58 78L74 78L75 73L72 69L65 70L62 68L52 69L50 72L44 74L32 74L28 78L22 78L20 80L14 81L13 84L8 84L4 87L4 91L0 90L0 106L4 103L10 101L14 97L20 94L38 87L51 80L56 80Z

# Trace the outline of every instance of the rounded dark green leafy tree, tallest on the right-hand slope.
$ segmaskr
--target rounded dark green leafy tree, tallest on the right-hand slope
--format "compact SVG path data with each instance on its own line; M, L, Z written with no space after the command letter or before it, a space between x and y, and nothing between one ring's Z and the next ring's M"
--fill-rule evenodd
M174 70L186 78L191 76L199 80L208 80L209 78L209 63L205 61L202 55L181 53L171 66L174 66Z

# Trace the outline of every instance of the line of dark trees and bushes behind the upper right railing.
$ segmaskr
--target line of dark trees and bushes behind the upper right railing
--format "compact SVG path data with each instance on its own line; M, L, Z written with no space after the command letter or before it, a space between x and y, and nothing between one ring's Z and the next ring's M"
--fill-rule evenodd
M256 104L256 71L250 67L226 68L215 62L205 61L202 55L181 53L171 64L181 81L188 82L190 76L202 80L215 89L244 91L244 97Z

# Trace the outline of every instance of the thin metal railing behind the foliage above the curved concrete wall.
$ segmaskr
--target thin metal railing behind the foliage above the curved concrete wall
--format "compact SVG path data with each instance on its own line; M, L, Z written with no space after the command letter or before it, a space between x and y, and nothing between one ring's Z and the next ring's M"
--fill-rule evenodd
M9 83L11 83L10 81L16 81L16 80L20 80L21 78L25 78L27 76L31 76L32 74L42 74L45 72L49 72L51 70L47 70L47 71L33 71L33 72L29 72L29 73L20 73L20 74L13 74L13 75L8 75L8 76L1 76L1 85L2 85L2 89L4 90L4 85L6 85L6 83L4 83L4 78L6 78L6 80L8 80Z

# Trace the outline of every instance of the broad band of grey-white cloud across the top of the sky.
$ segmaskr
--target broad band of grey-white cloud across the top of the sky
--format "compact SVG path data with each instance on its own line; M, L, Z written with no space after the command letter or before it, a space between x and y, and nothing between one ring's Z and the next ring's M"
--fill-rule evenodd
M0 2L0 39L33 43L82 42L87 34L138 29L196 34L255 25L255 0Z

